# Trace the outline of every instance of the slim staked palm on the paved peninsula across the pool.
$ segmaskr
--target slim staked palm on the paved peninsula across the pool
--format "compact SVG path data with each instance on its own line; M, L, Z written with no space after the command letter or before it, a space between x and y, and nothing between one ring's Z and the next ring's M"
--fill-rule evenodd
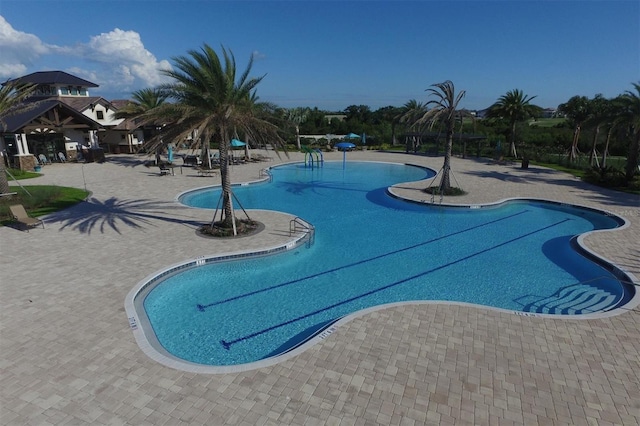
M451 148L453 146L453 130L458 115L458 104L464 98L466 92L462 90L456 95L453 83L447 80L443 83L432 84L435 89L427 89L430 96L435 99L428 101L425 106L433 106L418 120L420 123L430 123L433 128L435 123L441 122L446 130L446 147L444 152L444 164L442 166L442 179L440 181L440 191L444 193L451 188Z

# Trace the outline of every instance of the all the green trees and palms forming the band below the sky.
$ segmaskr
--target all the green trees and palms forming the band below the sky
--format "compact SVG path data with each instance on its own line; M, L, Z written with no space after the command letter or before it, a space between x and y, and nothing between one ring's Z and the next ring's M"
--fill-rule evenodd
M373 145L396 145L406 134L426 135L436 132L444 141L443 175L440 190L450 187L449 168L454 134L473 133L488 140L508 143L506 155L524 158L528 150L556 145L566 151L568 161L575 161L582 151L589 152L590 161L596 160L600 134L606 135L602 149L602 162L606 167L611 151L626 155L625 179L629 182L638 174L640 146L640 83L632 83L628 90L613 99L596 95L589 99L574 96L558 107L566 120L558 127L530 126L530 120L539 118L542 109L533 104L535 96L519 89L500 96L486 111L486 117L474 116L472 111L460 107L465 90L456 92L453 82L435 83L427 88L427 100L409 100L401 107L386 106L372 111L366 105L351 105L342 111L344 119L333 118L328 111L317 108L280 108L261 102L256 88L264 76L250 76L253 59L241 73L235 57L224 47L221 55L209 45L190 50L187 55L173 58L174 67L162 72L171 83L156 88L136 91L132 100L116 112L117 118L135 119L162 131L145 138L144 148L152 150L167 143L201 147L209 159L208 151L216 147L220 154L223 188L222 223L235 226L232 208L231 182L226 158L230 140L242 138L252 145L270 145L284 148L288 143L300 148L301 134L366 134ZM0 99L0 116L11 110L11 99L19 103L25 98L21 88L13 88ZM9 90L9 89L7 89ZM2 93L0 93L2 95ZM13 108L13 107L11 107ZM535 123L535 122L534 122ZM568 126L568 127L567 127ZM589 129L591 141L581 138ZM567 131L571 132L570 143ZM519 152L519 147L524 149ZM285 151L286 152L286 151ZM4 175L4 173L2 173ZM0 177L1 179L1 177ZM212 223L213 226L213 223Z

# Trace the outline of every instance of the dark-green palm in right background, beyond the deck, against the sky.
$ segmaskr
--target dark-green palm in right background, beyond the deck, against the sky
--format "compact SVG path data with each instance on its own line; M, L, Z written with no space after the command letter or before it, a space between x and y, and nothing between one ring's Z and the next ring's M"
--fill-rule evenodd
M516 124L529 118L536 118L540 115L542 108L532 105L535 96L527 96L522 90L514 89L500 96L498 101L489 107L487 116L506 120L511 127L510 151L513 157L518 157L516 152Z

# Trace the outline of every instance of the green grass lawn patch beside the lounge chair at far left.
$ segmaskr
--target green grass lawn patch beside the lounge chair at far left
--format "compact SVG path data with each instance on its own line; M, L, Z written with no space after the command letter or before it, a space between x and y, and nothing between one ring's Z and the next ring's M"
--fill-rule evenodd
M83 189L64 186L23 185L23 187L24 189L20 186L11 186L11 191L17 194L0 198L0 225L4 226L13 221L9 212L10 205L22 204L30 216L37 217L71 207L84 201L89 195L89 192Z

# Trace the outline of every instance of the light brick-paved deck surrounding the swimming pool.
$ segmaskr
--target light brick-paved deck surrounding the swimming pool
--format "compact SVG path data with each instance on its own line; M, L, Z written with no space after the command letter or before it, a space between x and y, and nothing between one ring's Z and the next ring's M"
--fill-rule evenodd
M234 166L234 182L280 163L269 155L271 163ZM441 157L350 153L357 159L442 166ZM153 361L124 312L137 282L178 261L291 237L289 216L260 211L255 219L266 228L254 238L196 238L211 213L175 196L219 179L187 167L160 176L144 160L117 155L104 164L46 166L28 183L86 186L92 198L52 215L44 230L0 228L1 424L640 423L638 308L566 320L403 305L358 316L303 353L257 370L196 374ZM625 217L626 229L593 233L584 243L640 277L638 196L544 168L452 164L468 195L445 202L545 198ZM419 201L426 198L420 187L395 191Z

